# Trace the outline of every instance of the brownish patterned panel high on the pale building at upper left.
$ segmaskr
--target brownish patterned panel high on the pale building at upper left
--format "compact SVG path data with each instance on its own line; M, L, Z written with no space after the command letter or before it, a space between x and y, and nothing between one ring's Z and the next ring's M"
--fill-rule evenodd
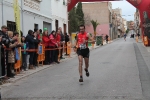
M24 5L31 9L40 11L40 2L34 0L24 0Z

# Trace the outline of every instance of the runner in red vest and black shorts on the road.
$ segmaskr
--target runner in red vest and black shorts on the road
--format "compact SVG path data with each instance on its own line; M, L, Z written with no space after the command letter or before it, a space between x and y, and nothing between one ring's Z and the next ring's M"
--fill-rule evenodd
M91 42L94 42L93 37L90 36L89 33L85 32L85 26L80 25L80 33L77 35L77 54L78 54L78 59L79 59L79 74L80 74L80 79L79 82L83 82L83 76L82 76L82 65L83 65L83 58L85 61L85 72L86 76L89 77L90 73L88 71L89 67L89 54L90 50L88 48L88 39L91 40Z

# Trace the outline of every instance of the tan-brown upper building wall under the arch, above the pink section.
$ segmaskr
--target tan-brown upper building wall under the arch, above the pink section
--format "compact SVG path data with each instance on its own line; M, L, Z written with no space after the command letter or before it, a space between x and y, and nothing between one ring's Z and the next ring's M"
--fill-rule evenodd
M97 20L100 24L109 23L109 10L107 2L83 3L85 16L90 16L90 20Z

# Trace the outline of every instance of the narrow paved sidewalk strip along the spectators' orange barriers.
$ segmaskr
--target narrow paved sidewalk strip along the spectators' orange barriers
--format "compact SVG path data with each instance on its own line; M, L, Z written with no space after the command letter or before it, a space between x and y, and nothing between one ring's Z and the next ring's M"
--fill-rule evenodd
M100 46L95 46L94 48L92 48L92 47L89 47L89 49L90 49L90 51L91 50L94 50L94 49L96 49L96 48L99 48ZM73 49L72 49L72 52L71 52L71 57L68 57L68 56L64 56L65 57L65 59L62 59L62 60L60 60L60 64L61 64L61 62L65 62L65 61L67 61L67 60L71 60L72 58L75 58L75 57L77 57L77 54L73 51ZM30 76L30 75L32 75L32 74L35 74L35 73L37 73L37 72L39 72L39 71L42 71L42 70L44 70L44 69L47 69L47 68L49 68L49 67L52 67L52 66L54 66L54 65L56 65L56 64L51 64L51 65L43 65L43 66L39 66L39 67L37 67L35 70L28 70L28 71L23 71L23 72L21 72L20 74L17 74L16 76L15 76L15 78L10 78L9 80L7 80L6 82L4 82L4 84L2 84L1 86L9 86L9 85L11 85L12 83L15 83L16 81L18 81L18 80L21 80L21 79L23 79L23 78L25 78L25 77L28 77L28 76Z

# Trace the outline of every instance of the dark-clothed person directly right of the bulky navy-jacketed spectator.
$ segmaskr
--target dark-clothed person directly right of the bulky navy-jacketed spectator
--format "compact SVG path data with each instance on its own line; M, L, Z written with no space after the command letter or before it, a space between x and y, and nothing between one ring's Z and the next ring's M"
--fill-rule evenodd
M38 44L40 43L37 33L38 33L38 31L33 33L33 36L35 38L35 49L38 49ZM35 52L34 57L33 57L33 66L35 66L35 67L37 67L37 60L38 60L37 58L38 58L38 54L37 54L37 52Z

